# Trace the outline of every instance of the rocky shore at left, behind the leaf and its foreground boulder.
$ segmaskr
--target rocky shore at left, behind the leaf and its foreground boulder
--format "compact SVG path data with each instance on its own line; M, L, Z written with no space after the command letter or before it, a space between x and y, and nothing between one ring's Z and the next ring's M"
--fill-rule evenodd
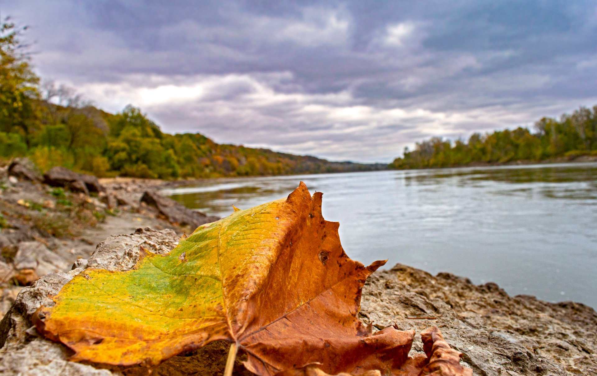
M27 159L0 167L0 316L47 273L63 272L110 235L139 227L180 236L219 218L165 198L160 181L106 181L56 167L39 174Z

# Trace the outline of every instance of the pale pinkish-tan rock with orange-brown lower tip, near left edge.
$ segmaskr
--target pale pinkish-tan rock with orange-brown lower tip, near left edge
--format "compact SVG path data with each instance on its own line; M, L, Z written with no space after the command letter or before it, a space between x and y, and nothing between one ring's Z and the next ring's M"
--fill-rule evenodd
M14 257L14 268L23 270L23 284L33 282L39 276L68 270L70 263L40 242L21 242ZM33 279L33 280L31 280ZM19 282L21 282L19 281Z

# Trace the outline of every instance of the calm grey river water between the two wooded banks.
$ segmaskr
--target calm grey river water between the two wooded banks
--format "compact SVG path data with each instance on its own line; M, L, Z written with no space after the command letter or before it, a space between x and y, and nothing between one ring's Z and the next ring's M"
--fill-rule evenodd
M224 217L324 192L346 253L597 307L597 163L219 178L164 193Z

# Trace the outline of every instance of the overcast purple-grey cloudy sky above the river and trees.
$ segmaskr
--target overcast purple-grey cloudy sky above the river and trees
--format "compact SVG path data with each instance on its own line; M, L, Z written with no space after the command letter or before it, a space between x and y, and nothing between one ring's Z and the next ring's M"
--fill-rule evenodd
M597 1L8 0L36 72L166 132L335 161L597 104Z

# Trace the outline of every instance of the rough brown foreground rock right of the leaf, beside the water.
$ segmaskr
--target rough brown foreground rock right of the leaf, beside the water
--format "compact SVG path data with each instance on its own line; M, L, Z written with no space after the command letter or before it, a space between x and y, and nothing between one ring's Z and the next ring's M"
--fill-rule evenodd
M475 375L597 374L597 314L580 303L510 297L496 283L398 264L367 280L359 315L378 328L439 326Z

